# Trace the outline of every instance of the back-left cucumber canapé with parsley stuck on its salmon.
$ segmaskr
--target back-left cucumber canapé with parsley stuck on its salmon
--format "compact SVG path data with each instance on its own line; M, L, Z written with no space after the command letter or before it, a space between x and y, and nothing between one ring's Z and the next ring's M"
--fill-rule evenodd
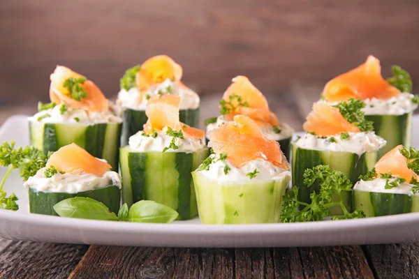
M31 144L45 154L75 143L118 167L122 119L101 89L64 66L52 73L49 104L38 104L29 117Z

